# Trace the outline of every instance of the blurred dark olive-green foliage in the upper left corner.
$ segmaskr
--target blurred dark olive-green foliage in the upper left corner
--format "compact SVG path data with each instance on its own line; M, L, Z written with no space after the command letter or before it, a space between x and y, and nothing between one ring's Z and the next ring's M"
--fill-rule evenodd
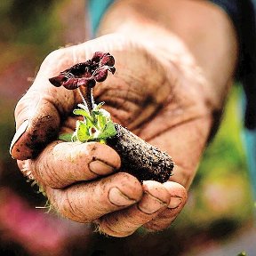
M65 1L63 1L65 2ZM28 53L39 63L60 45L60 1L8 0L0 4L0 68Z

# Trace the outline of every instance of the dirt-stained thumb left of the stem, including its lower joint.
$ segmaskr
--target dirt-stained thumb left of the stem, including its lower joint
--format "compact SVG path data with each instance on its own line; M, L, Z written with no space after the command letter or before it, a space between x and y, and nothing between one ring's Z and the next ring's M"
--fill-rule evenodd
M57 92L57 88L47 81L47 76L41 76L36 77L15 108L17 132L10 147L15 159L36 157L49 141L56 139L61 117L70 113L74 106L72 92L64 88Z

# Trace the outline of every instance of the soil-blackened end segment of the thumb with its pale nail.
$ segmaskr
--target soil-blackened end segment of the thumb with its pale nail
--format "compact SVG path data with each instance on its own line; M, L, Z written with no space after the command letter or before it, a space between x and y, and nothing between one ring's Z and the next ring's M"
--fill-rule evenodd
M39 95L27 93L15 109L16 129L10 153L13 158L33 158L44 145L55 138L60 116L54 106Z

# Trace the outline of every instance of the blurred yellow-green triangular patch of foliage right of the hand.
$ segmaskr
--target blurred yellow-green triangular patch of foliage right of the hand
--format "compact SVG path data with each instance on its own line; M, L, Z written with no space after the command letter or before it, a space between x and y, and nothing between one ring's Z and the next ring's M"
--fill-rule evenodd
M177 228L197 225L209 230L229 225L229 231L234 231L252 220L252 184L241 136L241 91L235 85L229 93L220 129L204 152Z

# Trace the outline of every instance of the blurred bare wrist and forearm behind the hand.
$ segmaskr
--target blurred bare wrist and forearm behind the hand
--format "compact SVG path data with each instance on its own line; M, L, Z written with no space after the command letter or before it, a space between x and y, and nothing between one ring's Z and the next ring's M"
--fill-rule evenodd
M174 61L200 76L208 108L220 110L233 80L238 48L228 15L207 1L159 1L117 1L102 20L100 35L131 35L165 60L167 68Z

